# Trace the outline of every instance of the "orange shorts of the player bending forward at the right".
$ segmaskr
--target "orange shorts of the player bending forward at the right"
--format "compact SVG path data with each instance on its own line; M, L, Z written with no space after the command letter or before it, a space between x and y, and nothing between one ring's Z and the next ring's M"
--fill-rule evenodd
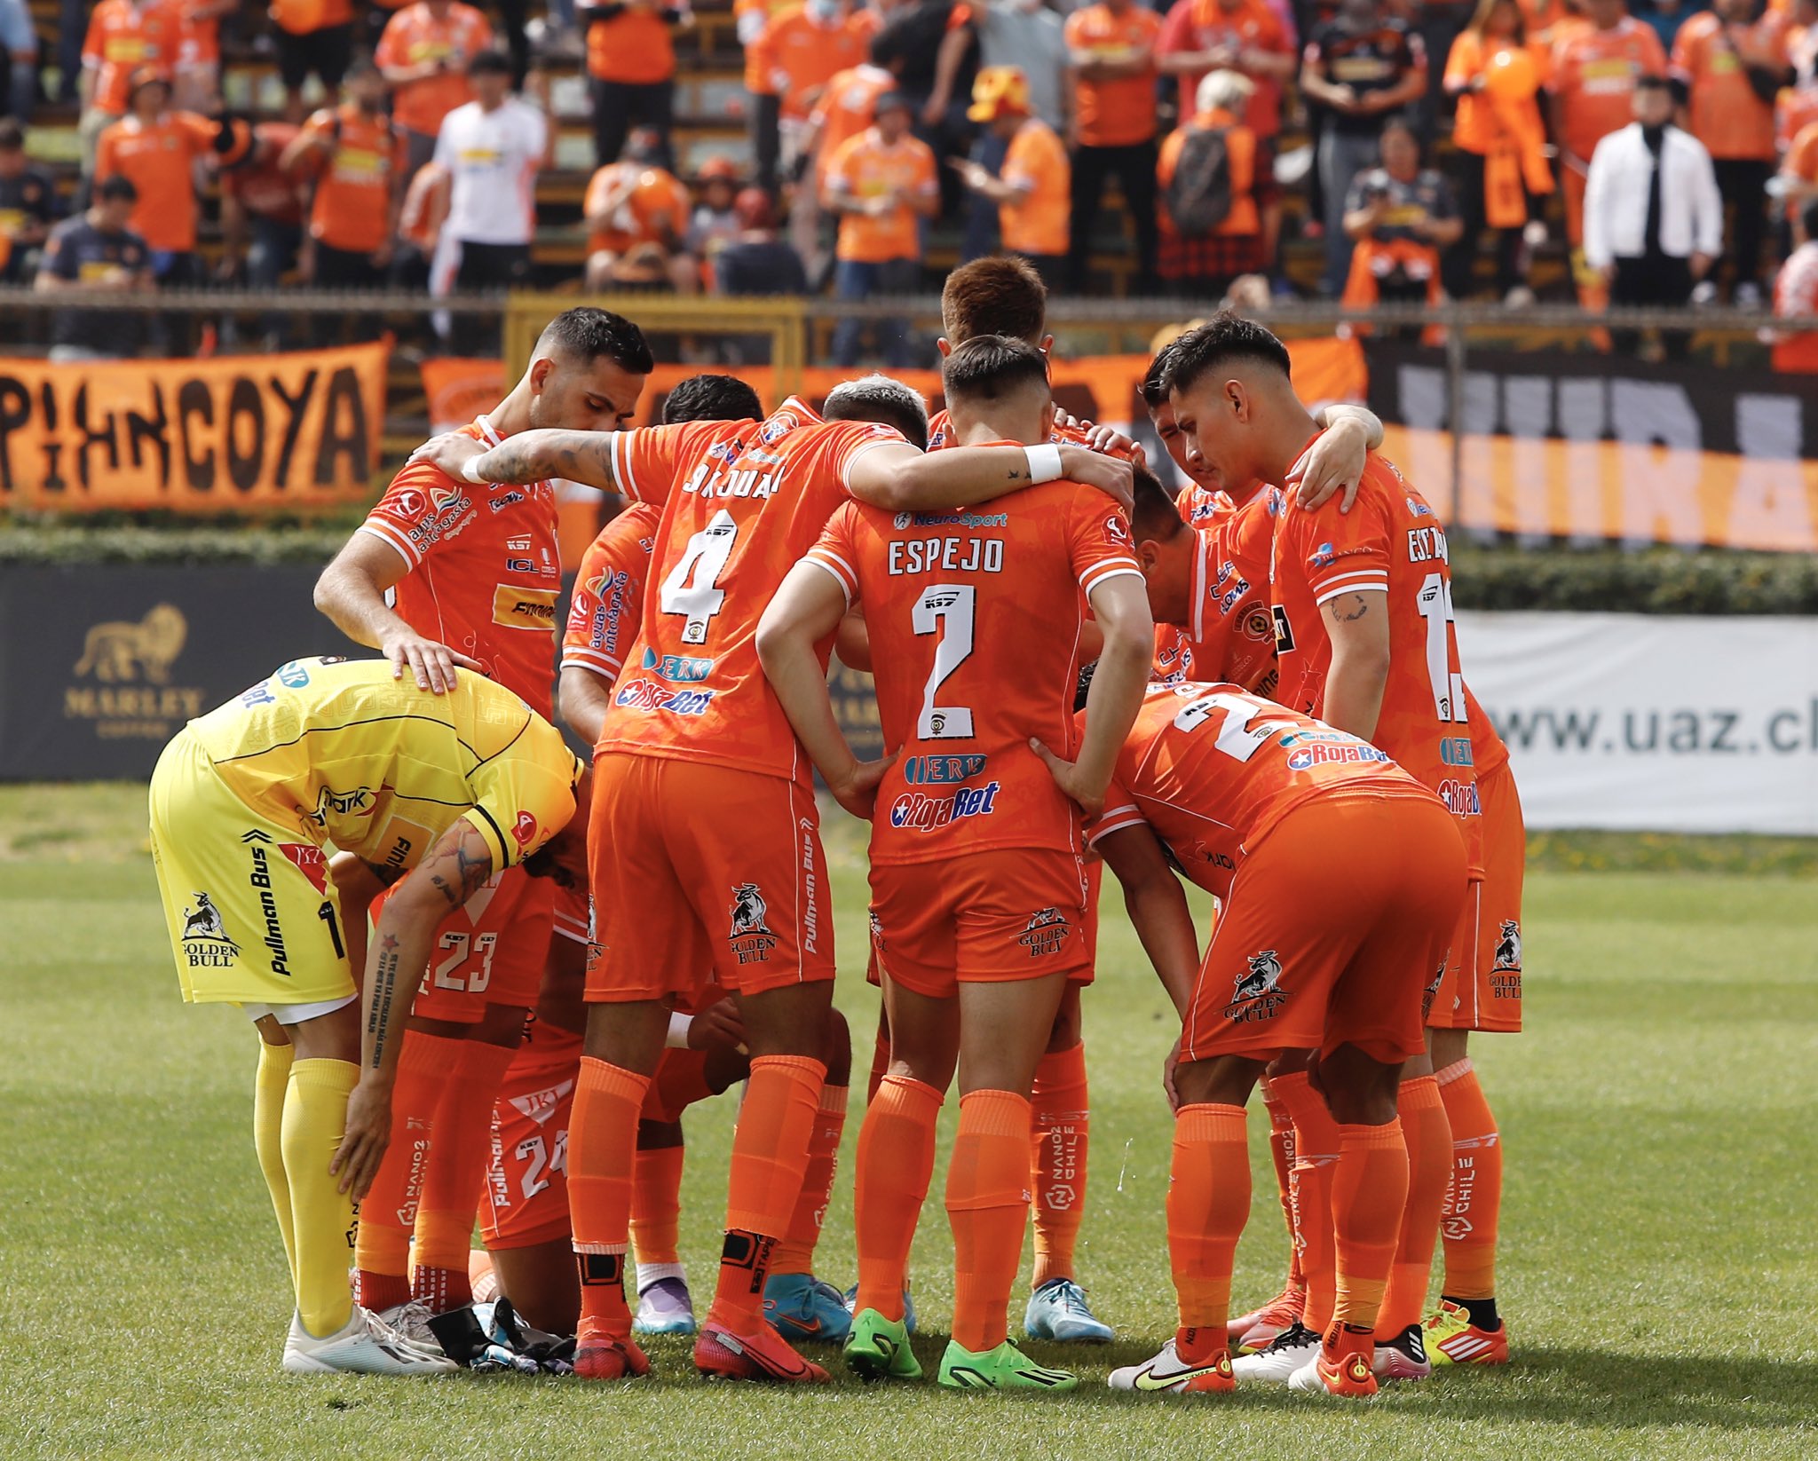
M1340 1045L1383 1063L1418 1056L1463 892L1463 838L1436 800L1349 792L1294 807L1231 883L1182 1059Z

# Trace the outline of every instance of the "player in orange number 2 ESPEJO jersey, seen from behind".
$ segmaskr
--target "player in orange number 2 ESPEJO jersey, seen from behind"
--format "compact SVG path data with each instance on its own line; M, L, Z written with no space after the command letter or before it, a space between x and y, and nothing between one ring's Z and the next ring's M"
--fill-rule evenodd
M953 349L942 382L960 445L936 460L1020 442L1053 476L1054 407L1034 345L976 336ZM940 1383L1047 1394L1078 1383L1031 1363L1005 1325L1029 1205L1031 1081L1062 994L1091 976L1093 958L1074 809L1031 740L1078 747L1069 707L1089 603L1104 652L1067 792L1085 805L1104 794L1147 678L1151 623L1134 578L1124 516L1069 482L1000 496L991 511L893 516L847 503L758 629L765 676L829 787L856 816L876 800L871 947L891 1061L858 1156L845 1359L864 1376L920 1376L904 1274L958 1067L947 1174L958 1272ZM849 607L864 611L874 651L891 752L882 785L860 774L816 654Z

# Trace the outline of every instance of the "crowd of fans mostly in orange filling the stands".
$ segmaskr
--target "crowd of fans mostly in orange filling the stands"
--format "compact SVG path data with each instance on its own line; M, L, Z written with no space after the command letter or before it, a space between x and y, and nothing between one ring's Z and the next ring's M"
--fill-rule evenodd
M945 225L1060 294L1104 293L1107 260L1129 293L1289 293L1298 236L1351 305L1522 305L1563 234L1589 305L1747 307L1778 278L1782 313L1818 307L1818 0L736 0L749 147L691 165L687 0L62 4L51 56L0 0L11 111L40 62L80 100L64 222L0 125L0 267L42 287L556 282L533 254L554 60L587 78L591 289L913 293ZM282 120L224 111L224 29L269 51ZM858 347L851 323L842 363ZM889 322L878 347L907 358Z

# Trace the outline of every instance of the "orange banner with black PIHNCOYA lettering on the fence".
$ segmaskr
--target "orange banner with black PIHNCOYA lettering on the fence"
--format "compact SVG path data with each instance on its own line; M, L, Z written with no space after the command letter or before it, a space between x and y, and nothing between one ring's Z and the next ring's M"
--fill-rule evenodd
M364 502L391 343L218 360L0 360L0 507L298 511Z

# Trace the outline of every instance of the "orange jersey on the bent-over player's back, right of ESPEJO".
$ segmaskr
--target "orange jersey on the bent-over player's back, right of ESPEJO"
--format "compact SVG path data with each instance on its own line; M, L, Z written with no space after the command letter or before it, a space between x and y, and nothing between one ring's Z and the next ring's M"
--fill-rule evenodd
M1087 840L1147 825L1174 867L1229 898L1244 858L1287 812L1347 792L1431 796L1385 750L1236 685L1151 685Z

